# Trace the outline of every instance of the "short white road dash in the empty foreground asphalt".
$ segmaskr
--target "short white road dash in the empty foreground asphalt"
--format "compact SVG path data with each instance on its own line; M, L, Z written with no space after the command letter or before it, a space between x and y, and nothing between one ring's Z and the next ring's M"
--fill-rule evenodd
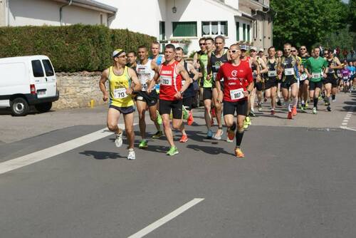
M153 230L157 229L158 227L162 226L162 224L169 222L174 217L177 217L179 214L182 214L183 212L187 211L187 209L193 207L194 205L197 205L199 202L201 202L203 200L204 200L204 198L194 198L194 200L187 202L182 207L175 209L173 212L167 214L166 216L162 217L161 219L157 220L156 222L153 222L152 224L148 225L144 229L141 229L139 232L132 234L128 238L144 237L146 234L148 234L148 233L152 232Z

